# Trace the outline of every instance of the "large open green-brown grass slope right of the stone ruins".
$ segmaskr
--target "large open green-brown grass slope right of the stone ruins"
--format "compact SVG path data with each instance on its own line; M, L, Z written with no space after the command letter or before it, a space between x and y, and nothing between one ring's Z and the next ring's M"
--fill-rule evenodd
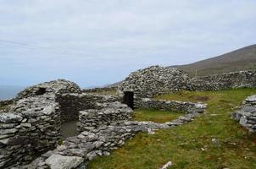
M204 102L208 103L208 108L192 123L159 130L153 135L137 134L111 155L97 157L90 162L89 168L156 169L168 161L173 162L171 169L256 168L255 134L249 134L230 118L232 108L253 94L256 89L161 95L158 98L182 101L196 101L198 96L207 96Z

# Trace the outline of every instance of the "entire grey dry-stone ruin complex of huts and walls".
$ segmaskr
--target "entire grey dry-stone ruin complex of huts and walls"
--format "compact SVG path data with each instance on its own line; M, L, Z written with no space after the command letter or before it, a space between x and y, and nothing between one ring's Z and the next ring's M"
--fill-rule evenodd
M14 100L0 102L8 106L0 110L0 168L86 168L95 156L109 155L136 133L153 134L157 129L192 122L206 108L202 103L155 100L154 95L255 85L254 71L191 79L181 70L159 66L132 73L120 85L120 95L89 93L64 79L35 85L21 91ZM252 96L233 114L252 132L255 105ZM134 108L184 115L167 123L134 122ZM79 121L80 134L60 141L61 124L71 121Z

